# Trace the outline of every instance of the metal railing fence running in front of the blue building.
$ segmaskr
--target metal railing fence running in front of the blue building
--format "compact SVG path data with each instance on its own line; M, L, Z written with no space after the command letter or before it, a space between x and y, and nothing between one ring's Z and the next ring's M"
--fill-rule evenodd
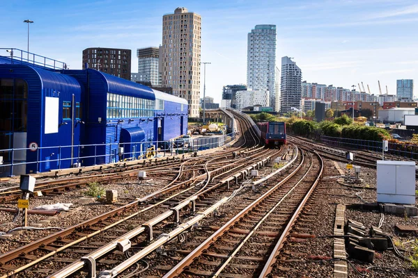
M0 177L198 152L222 147L234 139L235 133L229 133L169 141L0 149ZM23 161L27 154L36 159ZM29 165L31 171L27 170Z

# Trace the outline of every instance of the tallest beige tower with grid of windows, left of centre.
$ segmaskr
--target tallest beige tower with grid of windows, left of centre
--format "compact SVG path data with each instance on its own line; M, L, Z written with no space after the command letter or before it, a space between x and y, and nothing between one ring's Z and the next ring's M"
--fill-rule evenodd
M189 117L199 117L201 16L176 8L162 17L162 86L189 102Z

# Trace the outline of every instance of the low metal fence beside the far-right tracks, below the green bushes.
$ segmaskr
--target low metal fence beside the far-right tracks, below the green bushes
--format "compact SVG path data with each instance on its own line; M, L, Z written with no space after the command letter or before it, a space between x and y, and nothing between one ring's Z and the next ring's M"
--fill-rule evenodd
M353 138L339 138L330 136L320 136L320 142L329 146L346 147L350 149L362 149L382 153L382 141L359 140ZM399 144L389 142L389 149L385 154L394 154L405 158L417 159L418 146L407 143Z

